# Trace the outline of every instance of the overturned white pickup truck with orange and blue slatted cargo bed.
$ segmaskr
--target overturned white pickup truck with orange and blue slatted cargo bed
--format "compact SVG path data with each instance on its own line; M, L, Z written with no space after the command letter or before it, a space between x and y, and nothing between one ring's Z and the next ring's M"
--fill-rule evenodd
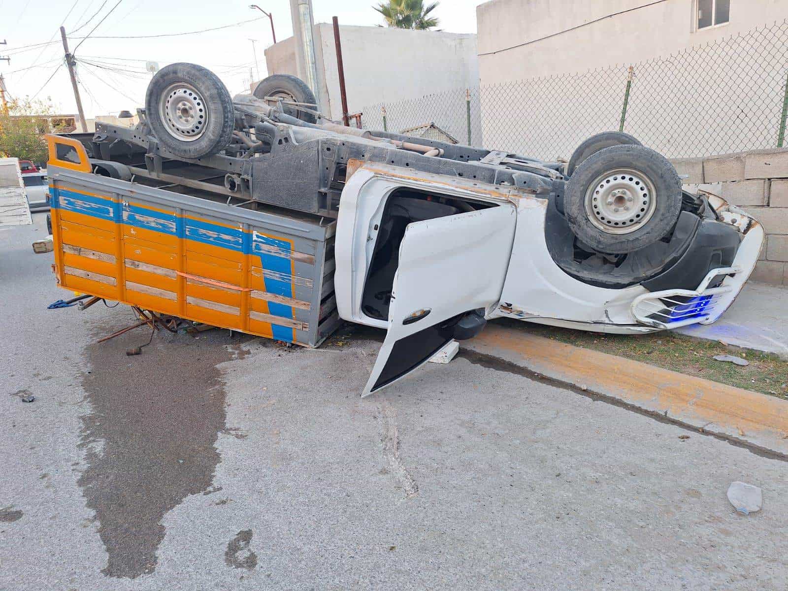
M50 136L60 284L312 347L342 320L388 329L369 393L491 318L714 322L758 258L757 221L682 191L626 134L540 162L344 127L314 102L292 76L231 98L173 64L136 128Z

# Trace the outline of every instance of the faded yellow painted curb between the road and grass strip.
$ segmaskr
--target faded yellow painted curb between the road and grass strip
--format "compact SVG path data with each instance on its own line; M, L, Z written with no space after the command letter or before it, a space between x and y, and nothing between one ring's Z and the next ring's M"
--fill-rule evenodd
M709 431L788 451L788 402L647 363L489 325L463 342L486 355Z

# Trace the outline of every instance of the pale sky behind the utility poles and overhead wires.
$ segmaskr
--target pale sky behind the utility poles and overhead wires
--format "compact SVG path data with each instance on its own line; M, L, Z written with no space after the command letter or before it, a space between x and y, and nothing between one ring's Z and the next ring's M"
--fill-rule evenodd
M104 6L102 6L102 2ZM120 0L109 17L91 37L76 48L118 0L0 0L0 73L12 97L35 95L50 97L61 113L76 113L69 73L63 63L59 28L65 24L69 46L76 58L92 62L77 65L80 94L87 118L115 114L123 109L143 106L145 89L151 74L146 61L163 67L174 61L191 61L216 72L230 94L243 91L249 84L249 69L257 68L266 76L263 50L272 43L269 20L251 3L273 14L277 40L292 35L288 0L226 0L225 2L171 2L171 0ZM455 33L476 32L476 6L482 0L442 0L433 11L439 29ZM372 9L373 0L312 0L314 21L340 24L383 24ZM70 10L70 14L69 14ZM68 17L66 15L68 14ZM95 17L90 20L92 16ZM261 20L253 20L260 18ZM87 22L87 24L85 24ZM239 26L197 35L179 35L158 39L100 39L106 36L162 35L198 31L243 22ZM255 39L257 64L252 54ZM37 43L55 43L26 47ZM76 48L76 50L75 50ZM31 67L33 66L33 67ZM50 79L49 82L46 80ZM46 83L46 84L45 84Z

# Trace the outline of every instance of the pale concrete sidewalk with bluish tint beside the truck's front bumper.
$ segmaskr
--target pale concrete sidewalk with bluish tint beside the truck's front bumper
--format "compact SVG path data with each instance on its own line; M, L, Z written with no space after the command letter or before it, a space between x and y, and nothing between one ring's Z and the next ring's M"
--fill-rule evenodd
M717 322L677 332L788 358L788 290L750 281Z

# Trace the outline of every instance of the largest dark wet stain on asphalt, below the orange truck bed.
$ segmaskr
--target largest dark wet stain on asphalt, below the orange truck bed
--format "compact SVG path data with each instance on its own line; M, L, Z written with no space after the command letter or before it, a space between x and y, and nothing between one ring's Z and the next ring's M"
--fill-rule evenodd
M83 388L92 412L82 419L87 469L79 485L109 555L102 572L111 577L153 572L165 513L210 491L220 459L214 446L225 429L216 366L237 359L222 346L224 331L156 336L143 355L127 357L140 338L132 332L86 349L91 371Z

